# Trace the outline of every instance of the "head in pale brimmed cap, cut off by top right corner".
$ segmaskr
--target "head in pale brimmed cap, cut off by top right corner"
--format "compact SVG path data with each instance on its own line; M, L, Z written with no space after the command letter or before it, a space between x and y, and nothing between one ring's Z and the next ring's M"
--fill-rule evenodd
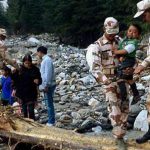
M150 23L150 0L142 0L137 3L137 13L134 18L143 17L143 21Z

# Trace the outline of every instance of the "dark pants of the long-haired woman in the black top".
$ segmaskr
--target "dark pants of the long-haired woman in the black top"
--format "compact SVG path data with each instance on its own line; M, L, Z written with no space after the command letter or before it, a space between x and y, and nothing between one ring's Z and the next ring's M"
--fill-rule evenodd
M22 104L22 111L25 118L30 118L35 120L34 107L35 107L34 102Z

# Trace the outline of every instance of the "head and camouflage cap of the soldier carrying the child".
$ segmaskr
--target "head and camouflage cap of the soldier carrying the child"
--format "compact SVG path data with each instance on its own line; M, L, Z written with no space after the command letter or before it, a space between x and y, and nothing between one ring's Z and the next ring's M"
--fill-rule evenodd
M119 23L113 17L108 17L104 21L105 36L109 41L113 41L114 37L119 33Z

